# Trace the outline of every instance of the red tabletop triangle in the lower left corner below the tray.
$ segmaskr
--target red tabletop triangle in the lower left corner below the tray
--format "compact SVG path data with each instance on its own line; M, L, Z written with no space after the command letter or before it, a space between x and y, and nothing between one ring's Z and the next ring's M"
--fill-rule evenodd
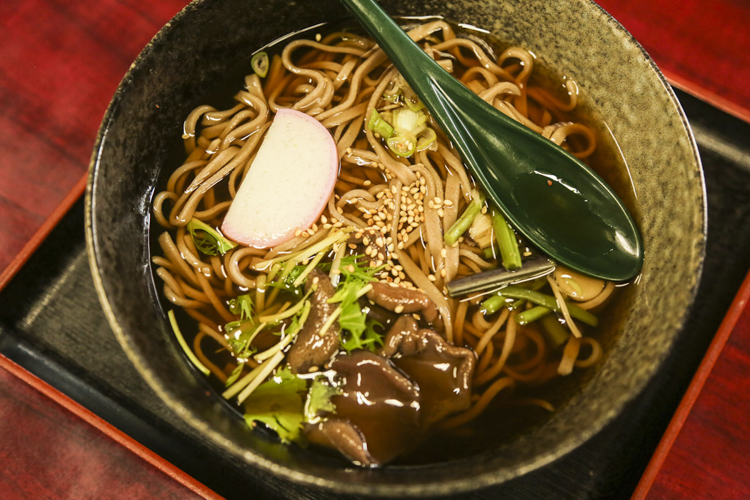
M0 436L5 500L221 499L2 355Z

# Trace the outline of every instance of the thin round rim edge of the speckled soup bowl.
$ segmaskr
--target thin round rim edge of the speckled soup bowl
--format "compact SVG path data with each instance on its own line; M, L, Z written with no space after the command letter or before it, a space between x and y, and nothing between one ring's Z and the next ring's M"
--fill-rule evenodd
M700 154L697 149L697 142L695 141L694 134L691 130L690 124L688 123L688 119L685 116L685 112L682 109L681 103L679 103L679 100L676 97L676 94L674 93L672 87L667 82L667 79L664 77L664 75L661 73L661 71L658 69L657 65L655 64L655 61L652 60L650 55L646 52L645 49L643 49L643 46L640 45L640 43L637 42L637 40L634 39L634 37L622 26L619 24L619 22L616 21L616 19L613 18L613 16L610 15L610 13L607 13L606 10L604 10L601 6L596 4L592 0L580 0L585 2L586 4L589 4L589 7L592 9L598 10L600 14L604 14L604 22L607 22L611 28L613 28L614 31L619 31L620 34L625 36L625 39L628 40L628 42L632 43L634 45L634 48L637 49L637 52L640 52L640 55L643 57L643 59L646 61L646 63L649 64L653 72L655 73L655 76L658 78L658 82L661 84L661 87L664 89L664 91L667 92L669 100L673 103L673 105L676 107L676 112L679 115L679 118L682 122L682 129L686 133L689 146L691 148L691 153L694 157L695 165L698 169L699 174L699 182L700 182L700 190L701 190L701 204L700 207L696 207L697 210L700 210L700 236L701 240L697 244L699 245L699 249L697 250L697 255L695 257L695 269L694 273L696 276L696 279L693 283L693 286L691 287L691 290L688 293L687 297L687 307L685 307L685 310L682 311L682 316L679 317L679 327L678 331L682 331L682 329L685 328L685 322L688 319L688 315L695 304L695 298L697 295L697 289L698 285L700 283L700 277L703 272L703 263L705 260L705 254L706 254L706 232L707 232L707 199L706 199L706 182L705 177L703 174L703 166L700 160ZM101 303L101 306L104 310L104 315L107 318L107 322L110 325L110 328L112 328L113 333L115 334L115 337L118 340L118 343L120 344L121 348L124 350L125 354L127 355L127 358L129 359L130 363L136 367L136 370L138 371L139 375L145 379L145 382L148 383L148 385L151 387L154 392L156 392L157 396L160 397L160 399L166 404L166 406L169 407L170 410L173 412L178 413L180 417L187 422L187 424L190 424L191 427L194 427L196 429L202 430L205 432L205 426L200 426L197 424L199 419L196 418L196 415L193 415L192 412L184 408L184 406L181 405L175 398L172 396L172 393L169 391L168 388L166 388L162 382L160 382L159 379L153 376L151 373L151 370L148 368L146 364L144 364L141 361L141 357L139 355L139 349L138 347L133 343L133 341L130 339L130 335L127 334L124 331L124 328L121 327L120 323L118 322L118 318L114 312L112 304L110 304L110 299L107 295L107 286L108 283L105 283L101 273L99 271L99 265L98 265L98 258L100 256L99 249L98 249L98 232L96 228L95 223L95 211L96 211L96 183L97 183L97 173L98 173L98 166L101 161L101 151L105 142L105 139L107 138L107 130L110 126L110 122L113 121L113 117L115 115L116 109L118 109L118 105L121 100L122 94L124 94L124 91L127 89L127 83L130 82L131 79L133 79L133 76L138 73L139 70L139 61L144 58L148 58L151 55L151 52L154 49L154 46L160 43L160 40L167 37L167 35L172 31L172 25L175 22L181 22L182 19L189 16L190 13L192 13L194 10L199 9L202 4L209 3L209 0L193 0L190 2L190 4L187 4L183 9L181 9L178 13L175 14L175 16L172 17L172 19L169 19L169 22L166 22L165 25L163 25L162 28L160 28L159 31L157 31L156 34L154 34L154 37L151 38L151 40L145 45L145 47L142 49L141 52L139 52L139 55L136 57L136 59L133 61L133 64L130 65L127 72L124 74L123 78L121 79L121 82L119 82L117 89L115 90L115 93L113 94L112 99L110 100L110 103L107 106L107 111L104 113L104 117L102 118L101 125L98 129L98 133L95 139L95 144L92 151L92 156L89 160L89 173L86 181L86 193L85 193L85 235L86 235L86 253L89 259L89 267L92 272L92 278L94 281L96 293L98 295L99 301ZM697 232L697 231L696 231ZM670 339L669 346L664 352L664 355L661 358L661 361L659 361L658 364L655 364L655 367L651 370L650 373L647 374L647 376L643 379L643 385L640 389L643 389L646 387L646 385L649 385L652 380L655 377L656 372L658 371L658 368L661 367L661 364L663 364L663 361L670 352L672 352L675 340L678 335L673 336ZM298 469L293 469L284 465L281 465L279 463L275 463L272 460L268 460L264 457L261 457L258 454L254 454L251 452L245 452L243 454L243 457L245 460L250 463L252 466L257 466L260 469L266 470L266 472L270 472L274 475L278 475L281 478L285 478L290 481L294 481L298 484L303 484L305 486L309 487L320 487L325 488L327 490L337 491L341 493L347 493L347 494L356 494L356 495L363 495L363 496L388 496L388 497L401 497L401 496L434 496L434 495L449 495L449 494L456 494L456 493L466 493L469 490L478 490L483 487L489 487L496 484L500 484L505 481L509 481L513 478L520 477L522 475L525 475L535 469L539 469L543 466L546 466L547 464L553 462L553 460L556 460L559 457L562 457L565 454L568 454L571 450L574 448L577 448L578 446L582 445L584 442L588 441L592 436L594 436L596 433L601 431L604 427L606 427L607 424L609 424L611 421L613 421L614 418L616 418L616 415L619 415L619 413L622 411L625 406L627 406L628 403L631 402L631 400L634 400L634 398L637 396L637 391L632 391L631 395L628 397L627 400L623 401L621 405L616 408L616 411L612 411L607 413L607 415L601 416L601 418L598 418L592 426L586 428L586 430L583 430L583 432L579 433L575 439L568 439L567 442L562 442L562 445L560 445L558 448L556 448L554 451L545 454L541 457L536 457L535 460L532 463L528 463L525 466L519 466L517 467L514 472L509 474L493 474L493 472L482 472L478 475L473 476L470 478L470 481L466 481L466 478L464 479L452 479L448 481L440 481L437 483L416 483L416 484L365 484L365 483L349 483L346 485L346 488L342 490L341 488L341 482L329 478L322 478L317 475L312 475L306 472L301 472ZM208 432L211 435L212 439L219 439L219 441L226 440L220 433L213 430L208 430ZM225 448L223 445L221 445L222 448Z

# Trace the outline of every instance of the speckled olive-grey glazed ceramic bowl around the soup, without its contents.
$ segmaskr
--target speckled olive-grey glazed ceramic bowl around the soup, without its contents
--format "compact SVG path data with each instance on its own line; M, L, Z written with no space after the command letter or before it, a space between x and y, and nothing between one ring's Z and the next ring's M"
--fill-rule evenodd
M154 37L122 80L95 145L87 191L89 255L104 310L133 364L178 415L233 460L340 492L455 493L508 481L568 453L649 383L697 287L706 222L703 178L685 116L663 76L591 1L380 3L393 15L446 16L532 50L578 83L628 164L646 251L643 274L610 322L604 363L571 381L570 396L550 418L497 448L449 463L347 468L250 432L217 397L206 397L205 384L172 338L148 263L148 230L154 184L184 117L255 49L347 16L337 1L197 1Z

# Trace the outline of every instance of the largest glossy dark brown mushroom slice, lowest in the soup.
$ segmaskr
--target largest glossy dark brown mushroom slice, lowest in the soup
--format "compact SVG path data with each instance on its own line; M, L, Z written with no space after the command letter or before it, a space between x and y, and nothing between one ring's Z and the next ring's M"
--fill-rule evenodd
M387 463L419 442L419 391L388 359L361 350L338 355L331 367L342 381L341 394L332 397L335 420L348 422L362 442L341 424L319 426L316 436L325 434L329 446L366 466Z

